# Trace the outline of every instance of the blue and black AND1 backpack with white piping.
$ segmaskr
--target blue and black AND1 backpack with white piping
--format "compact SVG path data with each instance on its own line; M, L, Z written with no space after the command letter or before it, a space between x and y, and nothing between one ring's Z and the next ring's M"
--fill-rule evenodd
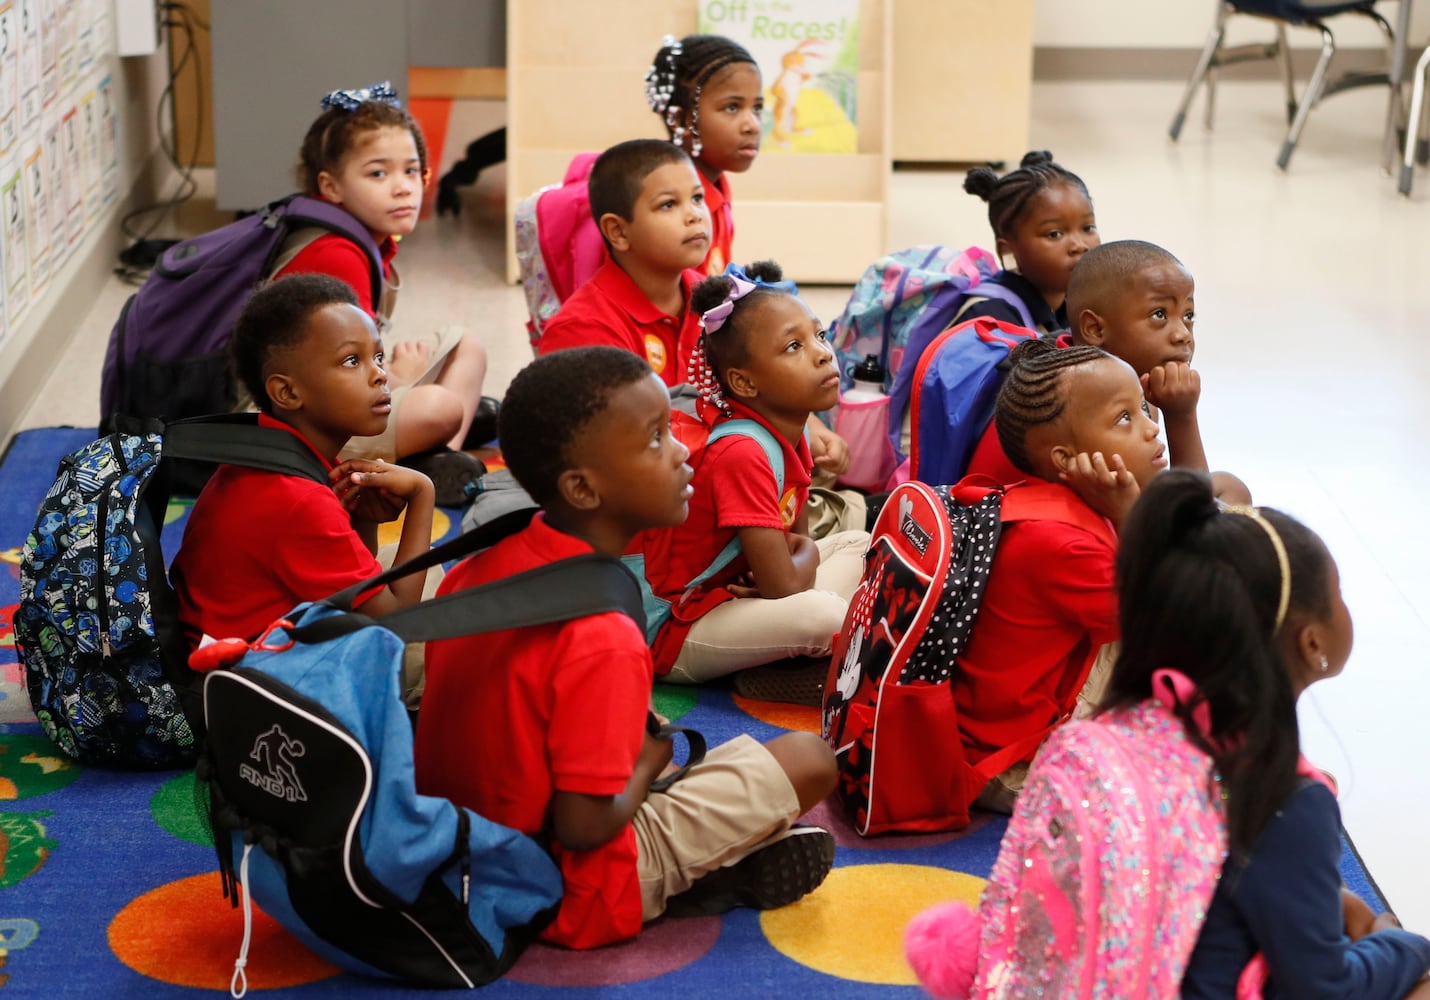
M588 554L379 619L352 611L359 594L486 548L531 518L505 515L299 605L256 642L216 644L213 662L232 667L204 681L199 777L225 894L242 898L246 926L257 903L345 969L472 989L505 973L555 916L561 873L542 844L416 791L403 645L606 611L639 622L631 574ZM246 961L247 937L235 996Z

